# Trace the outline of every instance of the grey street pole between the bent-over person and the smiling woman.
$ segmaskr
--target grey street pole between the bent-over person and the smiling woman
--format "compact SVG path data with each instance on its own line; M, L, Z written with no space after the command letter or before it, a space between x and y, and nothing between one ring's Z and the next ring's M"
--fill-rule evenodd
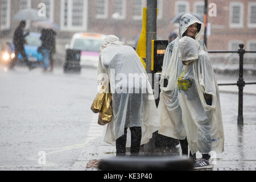
M151 42L156 39L156 9L158 7L157 0L147 0L147 43L146 43L146 72L151 72ZM151 74L152 75L152 74ZM152 79L152 89L154 89L154 74ZM152 155L155 152L155 133L147 144L144 144L143 150L146 155Z

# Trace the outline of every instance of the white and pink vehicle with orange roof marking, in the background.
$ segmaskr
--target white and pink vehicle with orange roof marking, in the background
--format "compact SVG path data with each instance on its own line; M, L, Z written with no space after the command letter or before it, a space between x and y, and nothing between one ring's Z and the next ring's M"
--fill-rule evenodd
M105 38L103 34L96 33L76 33L73 35L69 49L81 50L80 65L82 67L98 67L98 56L100 46Z

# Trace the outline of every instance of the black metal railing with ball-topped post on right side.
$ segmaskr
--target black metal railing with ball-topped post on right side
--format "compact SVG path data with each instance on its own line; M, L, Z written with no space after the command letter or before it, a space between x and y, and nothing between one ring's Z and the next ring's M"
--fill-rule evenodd
M245 82L243 80L243 55L245 53L256 53L256 51L245 51L243 49L244 45L239 44L240 49L237 51L208 51L208 53L238 53L239 54L239 78L237 83L232 84L218 84L219 86L225 85L237 85L238 86L238 117L237 117L237 124L243 125L243 87L245 85L252 85L256 84L256 82Z

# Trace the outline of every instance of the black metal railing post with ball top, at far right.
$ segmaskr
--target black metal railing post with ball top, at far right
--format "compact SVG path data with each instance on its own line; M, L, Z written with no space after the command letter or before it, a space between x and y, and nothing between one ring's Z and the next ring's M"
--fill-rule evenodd
M243 81L243 55L245 54L245 49L243 49L244 45L239 44L240 49L238 49L239 53L239 78L237 81L238 86L238 117L237 124L243 125L243 87L245 86L245 81Z

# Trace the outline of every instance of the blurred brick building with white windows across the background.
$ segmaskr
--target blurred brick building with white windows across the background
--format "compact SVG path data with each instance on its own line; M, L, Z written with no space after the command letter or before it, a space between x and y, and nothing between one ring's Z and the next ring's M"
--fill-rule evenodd
M0 0L0 39L11 40L17 21L14 14L20 9L39 9L46 4L46 16L59 25L58 43L65 44L74 32L116 34L127 44L133 44L142 27L142 7L146 0ZM237 49L239 43L246 49L256 49L256 1L209 0L215 3L216 16L210 23L208 49ZM178 24L170 23L177 13L204 12L204 1L158 0L158 36L168 39ZM117 15L118 13L118 15ZM36 31L28 22L27 28Z

